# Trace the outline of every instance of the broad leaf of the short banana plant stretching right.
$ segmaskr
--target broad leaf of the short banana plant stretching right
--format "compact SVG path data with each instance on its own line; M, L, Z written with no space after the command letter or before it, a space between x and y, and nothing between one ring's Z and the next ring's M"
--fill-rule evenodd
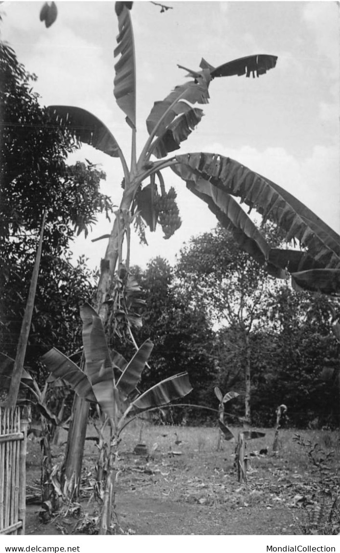
M192 386L187 373L175 374L162 380L132 402L133 413L136 410L166 405L170 401L184 397L191 392Z

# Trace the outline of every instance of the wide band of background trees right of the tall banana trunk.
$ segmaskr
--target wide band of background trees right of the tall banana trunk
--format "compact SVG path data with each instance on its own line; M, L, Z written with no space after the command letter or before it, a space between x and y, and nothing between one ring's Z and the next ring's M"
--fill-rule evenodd
M142 386L185 369L191 403L216 409L218 385L223 393L240 393L228 411L244 417L249 363L253 425L273 426L281 403L288 407L287 425L339 424L334 299L278 285L219 227L192 238L174 269L156 258L133 275L146 303L138 343L155 342ZM327 367L334 368L331 377ZM198 413L191 410L191 422L210 417Z

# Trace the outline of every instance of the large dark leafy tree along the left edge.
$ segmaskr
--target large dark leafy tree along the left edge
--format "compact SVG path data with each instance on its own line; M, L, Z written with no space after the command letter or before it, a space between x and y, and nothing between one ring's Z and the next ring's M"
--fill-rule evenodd
M80 346L79 304L90 299L93 278L81 258L71 264L75 233L87 233L96 215L111 210L100 193L102 171L90 163L67 164L78 147L54 127L14 51L0 44L1 124L1 338L0 351L15 357L43 213L43 253L26 362L57 345L65 353Z

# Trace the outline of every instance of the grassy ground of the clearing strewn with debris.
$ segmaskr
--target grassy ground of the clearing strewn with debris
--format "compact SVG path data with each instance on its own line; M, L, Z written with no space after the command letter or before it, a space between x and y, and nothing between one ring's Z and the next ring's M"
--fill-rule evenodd
M154 426L132 422L123 433L120 472L117 479L117 513L123 531L135 534L333 534L340 531L338 432L299 431L301 438L322 447L308 457L311 447L294 441L295 430L280 431L278 456L272 454L273 429L258 429L265 437L248 442L247 453L268 448L251 457L248 483L239 484L234 467L233 442L217 451L217 427ZM142 427L142 435L141 434ZM234 429L237 434L238 429ZM87 436L96 436L92 425ZM66 432L55 447L61 462ZM180 442L180 443L177 443ZM142 442L148 456L134 455ZM39 478L39 444L31 441L28 484ZM334 452L332 456L327 458ZM320 459L325 459L321 462ZM86 441L83 461L83 512L87 525L65 524L56 518L44 526L31 517L32 533L80 533L91 531L96 507L91 497L96 444ZM320 466L317 466L319 462ZM315 464L316 463L316 464ZM92 479L92 480L91 480ZM35 482L35 484L34 484ZM83 520L83 518L81 519ZM72 530L70 530L72 528Z

